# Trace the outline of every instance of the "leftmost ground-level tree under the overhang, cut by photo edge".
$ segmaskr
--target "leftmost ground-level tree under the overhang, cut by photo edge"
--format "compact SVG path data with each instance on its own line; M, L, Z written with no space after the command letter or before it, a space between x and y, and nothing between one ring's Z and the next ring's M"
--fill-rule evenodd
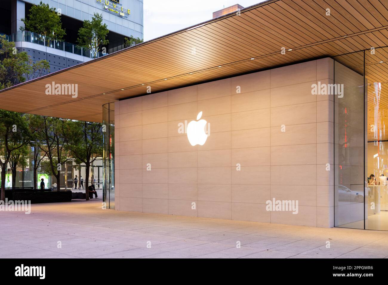
M0 157L1 167L1 195L0 200L5 201L5 172L10 161L11 152L20 149L29 142L31 133L23 114L0 110ZM3 159L3 160L2 160Z

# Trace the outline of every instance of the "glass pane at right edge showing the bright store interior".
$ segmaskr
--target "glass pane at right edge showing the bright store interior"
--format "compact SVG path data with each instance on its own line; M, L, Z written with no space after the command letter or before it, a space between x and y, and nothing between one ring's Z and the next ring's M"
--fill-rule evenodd
M365 78L367 78L367 187L368 202L365 211L365 229L388 230L387 161L388 137L385 120L388 107L387 64L388 48L365 52ZM365 200L366 204L366 200Z

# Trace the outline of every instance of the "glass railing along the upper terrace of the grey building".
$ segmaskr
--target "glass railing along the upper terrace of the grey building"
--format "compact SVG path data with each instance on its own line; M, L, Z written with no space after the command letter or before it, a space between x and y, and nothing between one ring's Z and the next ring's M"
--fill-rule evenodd
M11 35L6 35L6 38L8 41L26 41L29 43L36 43L38 45L55 48L57 50L63 50L64 52L70 52L72 54L93 58L93 53L87 48L74 45L73 43L68 43L66 41L52 40L46 36L29 31L17 31ZM98 52L96 57L102 57L104 55L106 54Z

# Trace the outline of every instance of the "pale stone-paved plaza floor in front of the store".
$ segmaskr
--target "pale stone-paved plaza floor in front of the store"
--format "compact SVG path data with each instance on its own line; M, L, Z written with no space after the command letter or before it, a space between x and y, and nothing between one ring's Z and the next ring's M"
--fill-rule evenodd
M388 232L102 209L102 198L0 212L2 258L385 258ZM240 245L240 246L239 246Z

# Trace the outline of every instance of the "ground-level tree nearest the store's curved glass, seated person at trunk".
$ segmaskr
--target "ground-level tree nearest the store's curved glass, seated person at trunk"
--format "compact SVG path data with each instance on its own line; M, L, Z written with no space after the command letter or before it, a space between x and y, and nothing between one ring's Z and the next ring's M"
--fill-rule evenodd
M102 156L102 124L85 121L72 121L71 130L74 131L68 144L71 155L76 162L85 164L85 196L89 200L89 171L91 164Z

